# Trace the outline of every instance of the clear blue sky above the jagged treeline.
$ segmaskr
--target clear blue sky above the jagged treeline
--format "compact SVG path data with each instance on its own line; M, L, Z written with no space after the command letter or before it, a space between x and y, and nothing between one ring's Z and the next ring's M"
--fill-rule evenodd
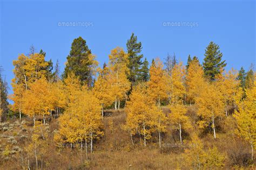
M151 61L176 53L204 58L210 41L220 46L226 69L248 69L255 63L254 1L1 1L0 65L9 86L12 60L28 54L33 44L46 59L64 69L73 39L82 36L100 65L111 49L126 46L134 32ZM65 27L58 22L90 22L93 26ZM191 22L197 26L163 26L164 22ZM11 87L10 87L11 88ZM11 89L9 90L11 93Z

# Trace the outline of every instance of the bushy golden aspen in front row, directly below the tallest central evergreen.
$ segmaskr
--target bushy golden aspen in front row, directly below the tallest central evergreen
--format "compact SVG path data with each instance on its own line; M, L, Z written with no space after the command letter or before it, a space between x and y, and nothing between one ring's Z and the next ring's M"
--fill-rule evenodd
M125 129L132 136L139 134L143 135L144 146L146 140L151 138L152 132L155 131L154 125L154 100L149 96L149 92L144 86L134 87L130 96L130 101L127 102L127 117ZM140 138L141 139L141 138Z

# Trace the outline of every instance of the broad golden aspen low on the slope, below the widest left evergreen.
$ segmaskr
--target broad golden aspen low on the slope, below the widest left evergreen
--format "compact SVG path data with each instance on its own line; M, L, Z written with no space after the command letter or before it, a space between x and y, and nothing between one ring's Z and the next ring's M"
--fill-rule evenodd
M73 103L69 104L68 109L60 116L59 134L65 143L81 143L82 147L84 141L87 155L87 144L90 143L92 153L93 140L99 139L104 134L101 108L98 99L87 90L87 87L82 87L76 94L73 96Z

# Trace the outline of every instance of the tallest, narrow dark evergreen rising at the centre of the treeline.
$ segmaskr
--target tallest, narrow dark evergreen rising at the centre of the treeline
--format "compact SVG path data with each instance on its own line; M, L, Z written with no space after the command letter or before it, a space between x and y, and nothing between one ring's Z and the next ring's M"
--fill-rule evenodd
M143 54L139 54L142 52L142 42L137 42L137 36L132 33L131 38L127 40L126 47L129 59L128 68L130 69L128 79L134 83L138 80L140 66L142 65Z

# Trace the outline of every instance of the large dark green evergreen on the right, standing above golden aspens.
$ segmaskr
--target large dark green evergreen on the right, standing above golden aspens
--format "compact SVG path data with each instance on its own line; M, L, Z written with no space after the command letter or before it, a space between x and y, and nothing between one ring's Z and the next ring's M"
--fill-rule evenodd
M225 60L221 61L223 54L219 49L219 46L213 41L211 41L205 49L205 58L203 62L204 74L210 81L214 81L215 76L227 65Z

